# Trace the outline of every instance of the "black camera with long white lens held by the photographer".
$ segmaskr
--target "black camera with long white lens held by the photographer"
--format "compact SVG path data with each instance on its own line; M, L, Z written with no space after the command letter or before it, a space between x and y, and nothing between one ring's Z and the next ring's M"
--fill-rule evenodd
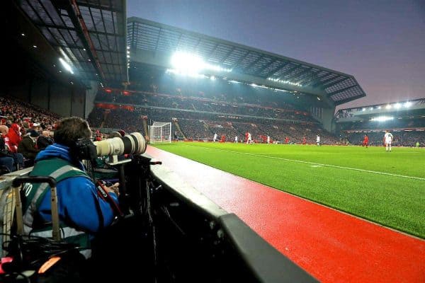
M146 140L139 132L114 137L103 141L79 139L74 146L74 154L80 160L94 160L97 156L143 154L146 151Z

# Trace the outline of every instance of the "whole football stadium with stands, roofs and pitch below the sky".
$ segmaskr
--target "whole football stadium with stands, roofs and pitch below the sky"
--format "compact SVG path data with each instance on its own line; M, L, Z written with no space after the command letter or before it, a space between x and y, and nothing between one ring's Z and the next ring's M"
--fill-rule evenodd
M425 282L425 97L126 8L4 3L0 282Z

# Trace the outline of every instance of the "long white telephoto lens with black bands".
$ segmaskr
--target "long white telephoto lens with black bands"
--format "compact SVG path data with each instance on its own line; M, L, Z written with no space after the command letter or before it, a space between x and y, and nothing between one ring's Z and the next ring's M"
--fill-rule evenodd
M114 137L103 141L94 141L98 156L143 154L146 151L146 140L139 132Z

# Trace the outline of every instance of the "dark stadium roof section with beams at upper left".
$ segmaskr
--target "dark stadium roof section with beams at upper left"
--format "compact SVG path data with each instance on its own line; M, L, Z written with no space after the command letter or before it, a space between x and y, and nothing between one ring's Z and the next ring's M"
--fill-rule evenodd
M125 0L22 0L18 5L87 86L128 81Z

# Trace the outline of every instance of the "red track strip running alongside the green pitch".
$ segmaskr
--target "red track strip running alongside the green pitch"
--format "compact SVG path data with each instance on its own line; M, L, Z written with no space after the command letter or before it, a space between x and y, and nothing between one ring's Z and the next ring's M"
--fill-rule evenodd
M148 146L320 282L425 282L425 241Z

